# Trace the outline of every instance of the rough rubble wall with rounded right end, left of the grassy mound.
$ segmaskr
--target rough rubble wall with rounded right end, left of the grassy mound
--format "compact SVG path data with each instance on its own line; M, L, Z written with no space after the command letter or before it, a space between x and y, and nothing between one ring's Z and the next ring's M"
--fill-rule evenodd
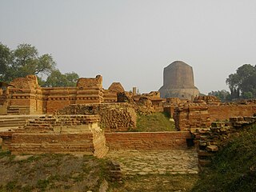
M98 114L106 131L127 131L136 127L137 115L129 103L70 105L57 114Z

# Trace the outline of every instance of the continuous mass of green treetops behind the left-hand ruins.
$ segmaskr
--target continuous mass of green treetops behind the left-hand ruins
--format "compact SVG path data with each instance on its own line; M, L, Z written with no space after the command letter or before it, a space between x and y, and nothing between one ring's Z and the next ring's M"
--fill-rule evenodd
M75 86L79 78L74 72L62 74L50 54L40 56L30 44L20 44L16 50L10 50L0 42L0 81L11 82L28 74L37 75L41 86Z

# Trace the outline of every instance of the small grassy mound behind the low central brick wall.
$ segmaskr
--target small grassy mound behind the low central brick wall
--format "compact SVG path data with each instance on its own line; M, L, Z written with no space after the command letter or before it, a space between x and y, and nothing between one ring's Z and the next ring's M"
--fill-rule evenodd
M170 121L170 118L165 113L154 114L138 114L137 128L131 131L140 132L155 132L155 131L174 131L174 122Z

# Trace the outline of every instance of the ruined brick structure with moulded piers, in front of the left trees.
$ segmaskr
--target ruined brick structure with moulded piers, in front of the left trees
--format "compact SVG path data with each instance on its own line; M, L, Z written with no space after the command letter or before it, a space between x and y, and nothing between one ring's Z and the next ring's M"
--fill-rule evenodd
M79 78L76 87L40 87L34 75L15 78L0 92L1 114L53 114L70 104L117 102L120 83L102 89L102 76Z

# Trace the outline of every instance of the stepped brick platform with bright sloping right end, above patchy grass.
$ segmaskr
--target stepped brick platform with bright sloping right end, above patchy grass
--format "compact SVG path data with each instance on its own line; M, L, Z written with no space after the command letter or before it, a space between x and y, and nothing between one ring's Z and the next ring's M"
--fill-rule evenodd
M75 153L106 155L106 138L95 115L42 116L16 130L4 145L12 154Z

